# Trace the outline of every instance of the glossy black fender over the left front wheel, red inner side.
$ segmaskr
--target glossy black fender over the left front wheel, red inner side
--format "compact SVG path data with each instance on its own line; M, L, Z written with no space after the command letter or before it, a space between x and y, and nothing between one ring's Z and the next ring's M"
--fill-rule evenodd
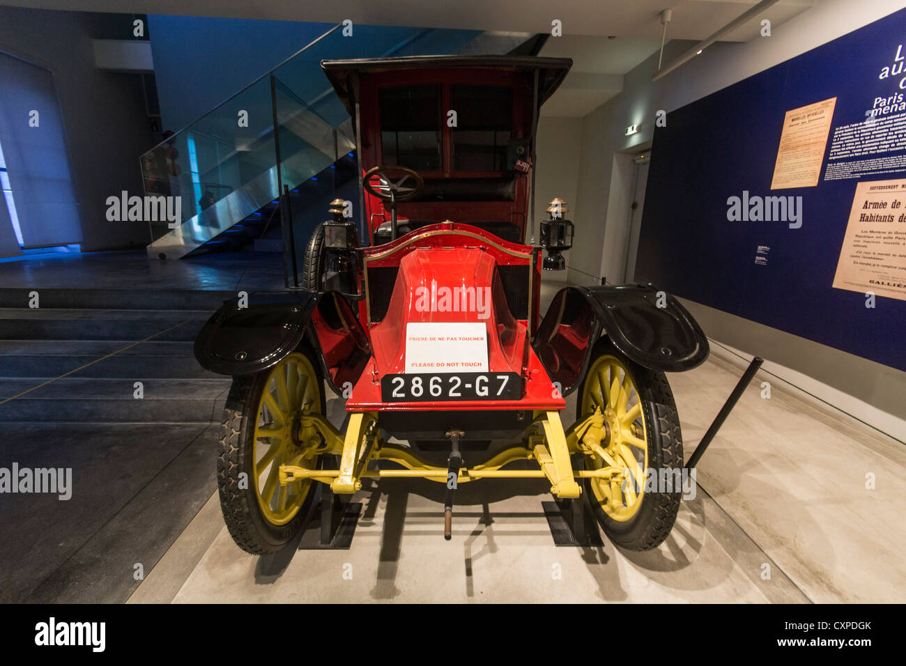
M201 367L232 376L261 372L307 338L333 391L358 381L371 346L342 294L256 292L247 301L225 301L202 326L194 346Z

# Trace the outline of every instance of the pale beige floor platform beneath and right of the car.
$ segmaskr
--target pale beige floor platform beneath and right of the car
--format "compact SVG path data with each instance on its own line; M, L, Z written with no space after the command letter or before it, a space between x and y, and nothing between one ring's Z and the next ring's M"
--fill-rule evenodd
M714 354L670 375L686 458L741 372ZM442 487L365 479L352 498L363 509L348 550L308 550L296 539L255 558L233 543L215 493L130 603L901 601L906 449L793 391L759 372L699 463L697 497L649 553L606 539L555 545L544 481L461 486L447 542Z

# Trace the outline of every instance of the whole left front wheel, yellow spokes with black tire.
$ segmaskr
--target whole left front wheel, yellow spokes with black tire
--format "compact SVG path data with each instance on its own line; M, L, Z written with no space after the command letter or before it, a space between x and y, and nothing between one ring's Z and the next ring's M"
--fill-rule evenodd
M324 389L313 353L300 348L272 368L236 377L224 412L217 460L220 506L243 550L273 553L302 527L317 482L279 482L281 465L316 468L317 430L301 427L304 411L323 414Z

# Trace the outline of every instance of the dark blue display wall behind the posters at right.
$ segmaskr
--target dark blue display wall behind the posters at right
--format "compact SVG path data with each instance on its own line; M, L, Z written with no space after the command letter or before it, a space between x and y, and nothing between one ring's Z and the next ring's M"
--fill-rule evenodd
M879 79L899 44L906 53L904 25L906 10L670 111L654 133L635 279L906 370L906 301L879 295L868 309L864 294L831 286L856 182L906 171L824 180L834 127L864 121L876 97L906 92L906 72ZM817 187L771 190L786 111L831 97ZM744 190L801 196L802 227L728 221L728 198ZM757 246L770 248L766 265L755 263Z

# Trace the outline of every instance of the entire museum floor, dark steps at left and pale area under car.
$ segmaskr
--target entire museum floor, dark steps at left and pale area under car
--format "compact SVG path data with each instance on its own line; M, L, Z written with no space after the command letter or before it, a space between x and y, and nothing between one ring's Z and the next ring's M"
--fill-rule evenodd
M535 480L462 486L446 542L439 485L397 479L366 483L353 498L362 513L349 550L301 549L297 540L269 557L242 553L223 525L214 482L228 381L198 372L190 340L207 301L238 288L278 288L280 270L273 256L0 262L0 463L65 460L79 475L68 502L3 499L0 599L809 603L906 596L906 448L764 372L700 462L698 496L683 503L670 538L651 553L624 553L606 539L598 547L555 546L543 510L551 497ZM557 287L545 284L545 304ZM47 301L40 316L22 304L34 288ZM187 290L178 303L155 295L174 289ZM87 290L95 300L77 304L75 292ZM163 299L156 309L149 307L155 298ZM107 330L120 333L94 339ZM134 346L120 350L129 340ZM687 457L745 365L713 346L704 365L670 375ZM136 411L109 400L133 379L144 380L158 403ZM769 400L760 397L761 381L771 382ZM38 388L18 396L25 387ZM77 407L79 400L90 404ZM331 407L339 424L339 402ZM168 420L168 410L178 418Z

